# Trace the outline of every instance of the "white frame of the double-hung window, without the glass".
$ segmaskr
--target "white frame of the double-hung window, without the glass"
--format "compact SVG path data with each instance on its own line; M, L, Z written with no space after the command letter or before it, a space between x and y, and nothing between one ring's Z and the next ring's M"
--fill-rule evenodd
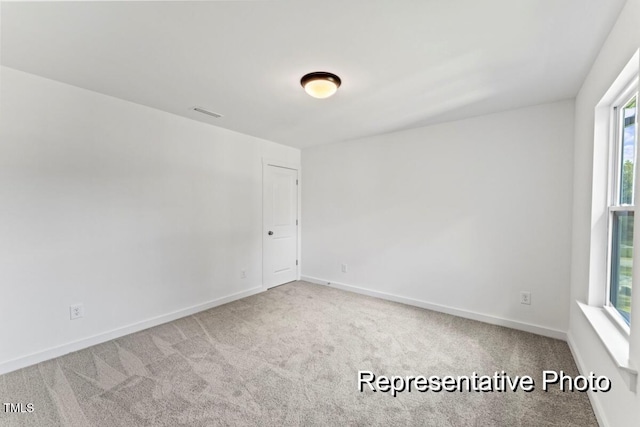
M634 188L631 196L631 204L621 204L621 191L622 191L622 155L623 155L623 135L624 135L624 116L621 114L624 111L624 107L633 99L636 98L636 134L635 134L635 150L634 150L634 169L633 169L633 183ZM618 309L613 306L611 302L611 279L612 279L612 267L613 267L613 251L614 251L614 216L616 212L631 212L634 216L636 213L636 200L635 200L635 183L637 170L638 149L638 76L634 76L630 82L624 85L624 89L621 90L610 104L609 115L609 171L607 175L608 180L608 194L607 194L607 252L606 252L606 286L604 287L604 310L607 315L613 320L614 324L622 331L626 336L631 333L630 322L619 313ZM635 227L634 227L635 234ZM634 248L635 249L635 248ZM631 302L633 304L633 300Z

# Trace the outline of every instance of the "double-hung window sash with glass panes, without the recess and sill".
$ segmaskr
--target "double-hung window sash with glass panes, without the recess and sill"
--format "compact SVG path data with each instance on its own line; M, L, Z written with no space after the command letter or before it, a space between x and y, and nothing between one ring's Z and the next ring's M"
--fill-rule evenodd
M627 326L631 319L637 102L638 85L634 80L613 103L610 121L609 277L605 308Z

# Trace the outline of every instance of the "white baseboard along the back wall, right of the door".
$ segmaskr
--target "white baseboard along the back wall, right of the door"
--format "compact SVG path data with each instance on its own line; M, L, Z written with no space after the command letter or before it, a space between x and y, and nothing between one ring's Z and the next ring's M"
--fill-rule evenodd
M464 317L465 319L477 320L479 322L489 323L492 325L505 326L511 329L517 329L520 331L531 332L537 335L543 335L545 337L555 338L566 341L567 333L551 329L544 326L534 325L531 323L518 322L515 320L503 319L501 317L490 316L487 314L476 313L473 311L462 310L459 308L449 307L446 305L434 304L426 301L421 301L413 298L407 298L399 295L389 294L386 292L373 291L371 289L361 288L358 286L348 285L345 283L334 282L331 280L319 279L317 277L302 276L300 280L316 283L318 285L330 285L334 288L342 289L345 291L355 292L358 294L368 295L376 298L382 298L389 301L399 302L402 304L413 305L416 307L426 308L427 310L438 311L441 313L452 314L458 317Z

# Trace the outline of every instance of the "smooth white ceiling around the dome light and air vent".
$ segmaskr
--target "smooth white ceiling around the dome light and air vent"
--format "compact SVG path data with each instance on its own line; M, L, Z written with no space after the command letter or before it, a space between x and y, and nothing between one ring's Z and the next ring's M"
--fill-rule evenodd
M572 98L623 4L3 2L1 62L304 148ZM311 71L343 85L313 99Z

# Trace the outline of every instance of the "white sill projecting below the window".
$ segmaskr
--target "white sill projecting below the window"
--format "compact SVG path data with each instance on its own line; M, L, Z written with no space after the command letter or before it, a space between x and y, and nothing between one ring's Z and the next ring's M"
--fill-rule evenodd
M576 303L596 331L596 335L598 335L602 344L604 344L607 353L609 353L609 356L618 367L629 390L635 393L638 383L638 370L629 360L629 337L613 323L613 320L611 320L603 307L592 307L579 301L576 301Z

